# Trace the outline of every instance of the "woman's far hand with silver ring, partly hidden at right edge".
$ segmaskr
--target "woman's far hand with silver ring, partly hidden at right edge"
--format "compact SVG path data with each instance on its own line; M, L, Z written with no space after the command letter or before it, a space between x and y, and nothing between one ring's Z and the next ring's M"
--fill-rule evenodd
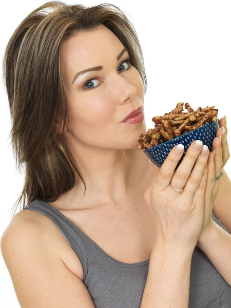
M213 151L209 153L208 157L208 175L207 175L207 184L205 188L205 211L204 211L204 222L201 229L201 234L199 237L202 237L207 230L213 226L213 206L215 199L217 197L219 186L220 186L220 179L215 180L215 177L219 177L222 173L222 169L226 164L227 160L230 157L228 143L227 143L227 123L225 123L225 118L221 118L219 121L220 128L217 130L217 137L213 140L213 149L215 150L215 159ZM224 127L225 134L223 134L222 126ZM221 144L220 138L221 136Z

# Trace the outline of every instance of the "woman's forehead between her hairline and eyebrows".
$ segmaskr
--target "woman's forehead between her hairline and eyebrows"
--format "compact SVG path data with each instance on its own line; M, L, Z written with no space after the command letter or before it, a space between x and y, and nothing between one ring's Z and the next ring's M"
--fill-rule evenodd
M61 59L64 73L70 79L76 72L88 67L103 65L123 49L119 38L104 25L86 32L79 32L63 43Z

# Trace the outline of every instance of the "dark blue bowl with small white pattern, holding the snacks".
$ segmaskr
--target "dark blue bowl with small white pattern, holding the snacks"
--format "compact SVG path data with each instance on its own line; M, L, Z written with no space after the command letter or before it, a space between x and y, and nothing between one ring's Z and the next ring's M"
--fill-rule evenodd
M203 144L208 146L209 151L213 150L213 140L217 137L217 130L219 129L219 119L216 122L209 122L195 130L191 130L182 136L176 137L159 145L153 146L149 149L144 149L144 153L147 155L149 160L156 165L157 167L161 167L163 162L168 156L170 150L175 147L177 144L183 144L184 153L176 167L179 167L182 162L187 148L194 140L201 140ZM175 170L176 170L175 169Z

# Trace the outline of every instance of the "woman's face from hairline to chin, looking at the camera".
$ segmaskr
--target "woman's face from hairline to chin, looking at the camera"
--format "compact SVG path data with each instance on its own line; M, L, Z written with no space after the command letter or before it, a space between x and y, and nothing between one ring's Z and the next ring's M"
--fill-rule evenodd
M119 38L101 25L81 32L62 46L69 125L66 137L87 147L132 149L146 132L145 120L122 123L132 110L144 105L144 85ZM102 70L75 75L85 69ZM89 81L90 80L90 81Z

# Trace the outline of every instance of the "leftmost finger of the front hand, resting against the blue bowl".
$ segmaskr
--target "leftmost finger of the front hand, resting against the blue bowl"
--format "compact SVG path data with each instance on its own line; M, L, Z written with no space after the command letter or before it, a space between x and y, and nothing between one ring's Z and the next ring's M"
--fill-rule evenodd
M174 174L177 164L179 163L179 160L183 155L184 146L182 144L181 147L179 146L180 144L176 145L170 150L167 158L165 159L164 163L162 164L158 172L155 181L156 183L155 189L158 189L159 192L166 189L170 184L172 175Z

